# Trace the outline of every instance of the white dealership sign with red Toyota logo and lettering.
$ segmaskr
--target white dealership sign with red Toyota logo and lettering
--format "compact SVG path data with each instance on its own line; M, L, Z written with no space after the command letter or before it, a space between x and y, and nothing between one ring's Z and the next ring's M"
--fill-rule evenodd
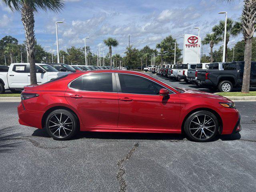
M196 35L184 36L184 63L200 63L201 38Z

